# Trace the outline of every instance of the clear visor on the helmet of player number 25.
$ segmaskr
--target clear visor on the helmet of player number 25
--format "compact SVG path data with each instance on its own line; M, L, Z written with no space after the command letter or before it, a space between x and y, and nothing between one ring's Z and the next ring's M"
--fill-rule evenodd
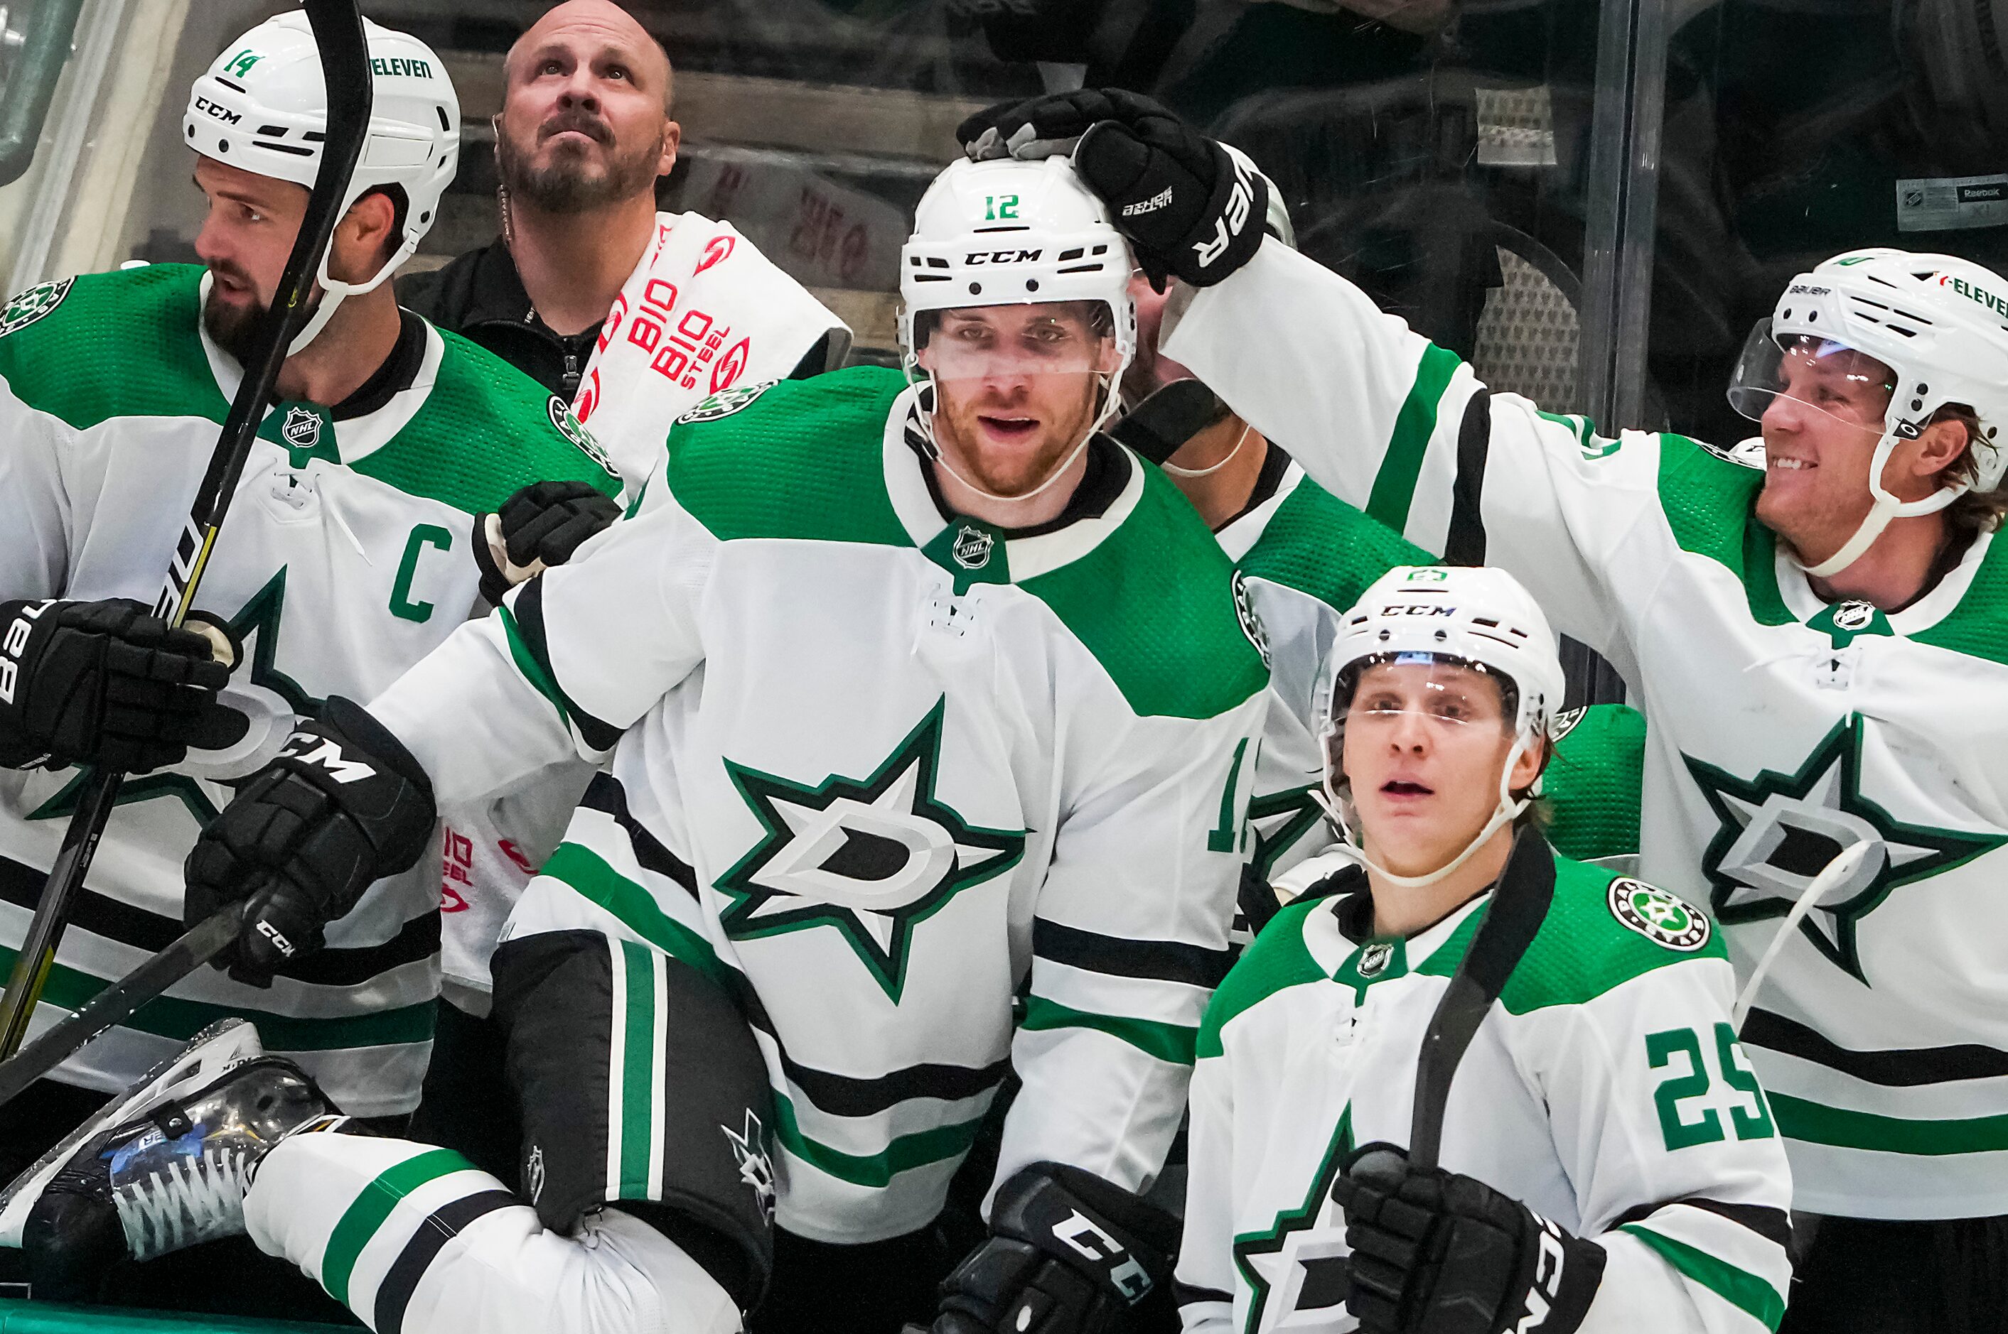
M1496 742L1512 736L1516 704L1512 682L1480 662L1426 652L1363 658L1339 678L1319 736L1325 796L1345 796L1349 732L1367 744L1404 744L1418 734L1440 746ZM1486 758L1494 758L1490 748Z

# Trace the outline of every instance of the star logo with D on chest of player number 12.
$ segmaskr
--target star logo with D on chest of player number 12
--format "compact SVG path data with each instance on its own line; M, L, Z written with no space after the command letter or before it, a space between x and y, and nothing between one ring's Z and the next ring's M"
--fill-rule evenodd
M914 927L972 885L1018 865L1026 830L978 828L934 796L938 700L863 780L801 786L725 760L765 835L719 877L733 939L833 927L892 1001L906 983Z

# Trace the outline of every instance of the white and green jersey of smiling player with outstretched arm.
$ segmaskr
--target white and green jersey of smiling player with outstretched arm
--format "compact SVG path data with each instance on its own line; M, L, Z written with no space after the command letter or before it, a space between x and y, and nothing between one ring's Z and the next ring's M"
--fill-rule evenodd
M1351 283L1265 243L1165 355L1333 493L1504 566L1651 718L1641 871L1739 969L1843 847L1743 1029L1797 1208L2008 1212L2008 548L1916 604L1825 604L1753 518L1763 475L1681 435L1596 435L1488 393Z

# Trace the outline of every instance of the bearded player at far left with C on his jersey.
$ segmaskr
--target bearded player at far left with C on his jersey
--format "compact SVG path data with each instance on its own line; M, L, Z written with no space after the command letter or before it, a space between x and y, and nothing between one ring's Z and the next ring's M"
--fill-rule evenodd
M490 353L400 315L386 279L434 223L460 110L430 48L375 24L367 40L375 112L317 309L279 371L279 401L195 608L235 644L239 666L223 690L239 714L235 738L203 736L187 756L143 752L131 764L155 772L120 792L56 955L42 1027L207 915L213 899L185 897L181 863L231 784L263 768L297 718L339 710L341 696L367 700L466 620L484 574L478 516L538 479L618 489L562 403ZM114 600L159 590L319 166L317 66L293 12L243 34L195 80L183 132L209 201L195 241L203 267L46 283L0 317L0 624L18 614L40 626L18 662L28 698L86 680L80 658L60 652L64 636L131 614ZM10 764L56 756L0 772L0 959L10 963L80 784L70 764L92 754L60 736L6 750ZM88 1111L64 1087L122 1089L231 1013L257 1017L265 1039L353 1113L410 1111L440 991L440 877L438 853L424 859L432 822L396 832L396 849L375 849L386 873L375 885L267 895L267 925L295 945L325 945L311 959L301 951L295 965L269 937L247 937L231 975L189 977L64 1063L60 1083L16 1101L12 1170ZM16 1246L20 1228L20 1212L0 1214L0 1242Z

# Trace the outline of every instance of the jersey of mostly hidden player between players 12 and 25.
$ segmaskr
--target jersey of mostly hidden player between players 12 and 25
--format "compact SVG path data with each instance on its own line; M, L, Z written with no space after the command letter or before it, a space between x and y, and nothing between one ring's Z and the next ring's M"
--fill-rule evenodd
M1329 688L1325 656L1339 618L1394 566L1430 556L1337 499L1271 441L1275 489L1215 538L1235 562L1269 644L1269 716L1255 752L1251 875L1267 885L1331 843L1315 794L1323 780L1317 732Z

